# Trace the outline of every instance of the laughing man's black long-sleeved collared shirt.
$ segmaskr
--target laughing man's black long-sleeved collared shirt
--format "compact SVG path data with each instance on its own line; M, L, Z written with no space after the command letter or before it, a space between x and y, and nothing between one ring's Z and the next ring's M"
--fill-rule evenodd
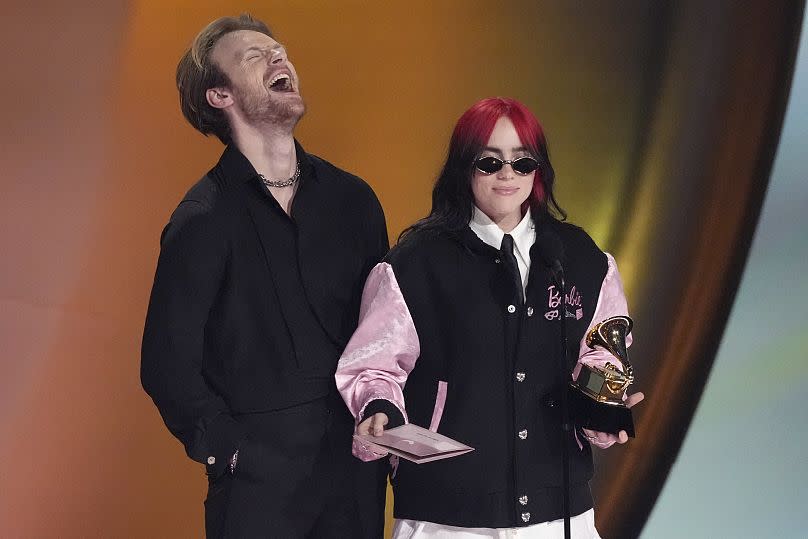
M290 215L230 146L163 231L141 378L199 462L224 466L238 448L234 415L332 390L365 278L388 249L370 187L299 145L297 155Z

